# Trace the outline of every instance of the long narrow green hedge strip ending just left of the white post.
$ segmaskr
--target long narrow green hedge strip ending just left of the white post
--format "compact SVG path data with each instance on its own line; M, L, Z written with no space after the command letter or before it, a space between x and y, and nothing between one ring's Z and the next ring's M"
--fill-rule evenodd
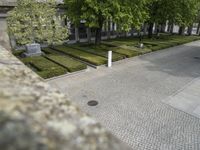
M94 55L94 54L91 54L91 53L83 52L81 50L69 48L69 47L62 46L62 45L56 46L56 47L54 47L54 49L56 49L60 52L63 52L67 55L71 55L71 56L78 58L80 60L83 60L85 62L88 62L90 64L96 65L96 66L106 64L106 62L107 62L107 59L104 58L104 57L97 56L97 55Z

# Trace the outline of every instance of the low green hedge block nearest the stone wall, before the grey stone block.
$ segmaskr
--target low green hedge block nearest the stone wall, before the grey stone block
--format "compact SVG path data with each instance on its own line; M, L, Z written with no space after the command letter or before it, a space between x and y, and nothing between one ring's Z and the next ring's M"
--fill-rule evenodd
M67 73L67 70L65 68L53 63L52 61L42 56L27 57L22 58L21 60L44 79Z

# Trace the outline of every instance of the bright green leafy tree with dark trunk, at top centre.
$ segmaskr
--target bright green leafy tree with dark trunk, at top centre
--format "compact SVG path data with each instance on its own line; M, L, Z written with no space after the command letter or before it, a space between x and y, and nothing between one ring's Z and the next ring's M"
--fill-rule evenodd
M95 43L101 42L101 31L106 21L117 23L119 30L128 31L131 26L139 28L146 17L143 10L146 0L65 0L68 17L73 23L86 21L95 28Z

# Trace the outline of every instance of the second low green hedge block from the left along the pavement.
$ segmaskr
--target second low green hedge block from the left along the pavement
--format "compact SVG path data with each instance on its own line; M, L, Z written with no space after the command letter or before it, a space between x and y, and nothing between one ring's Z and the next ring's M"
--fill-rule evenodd
M56 63L64 66L65 68L67 68L67 70L69 72L75 72L75 71L80 71L83 69L87 68L87 65L78 62L70 57L67 56L61 56L61 55L48 55L46 56L49 59L55 61Z

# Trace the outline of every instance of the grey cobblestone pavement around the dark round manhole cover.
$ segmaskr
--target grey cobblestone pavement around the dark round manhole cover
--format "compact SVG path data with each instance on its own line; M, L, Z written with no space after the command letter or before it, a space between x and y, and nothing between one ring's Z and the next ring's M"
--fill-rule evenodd
M200 41L49 83L133 149L200 150L200 119L163 103L200 76L198 57Z

